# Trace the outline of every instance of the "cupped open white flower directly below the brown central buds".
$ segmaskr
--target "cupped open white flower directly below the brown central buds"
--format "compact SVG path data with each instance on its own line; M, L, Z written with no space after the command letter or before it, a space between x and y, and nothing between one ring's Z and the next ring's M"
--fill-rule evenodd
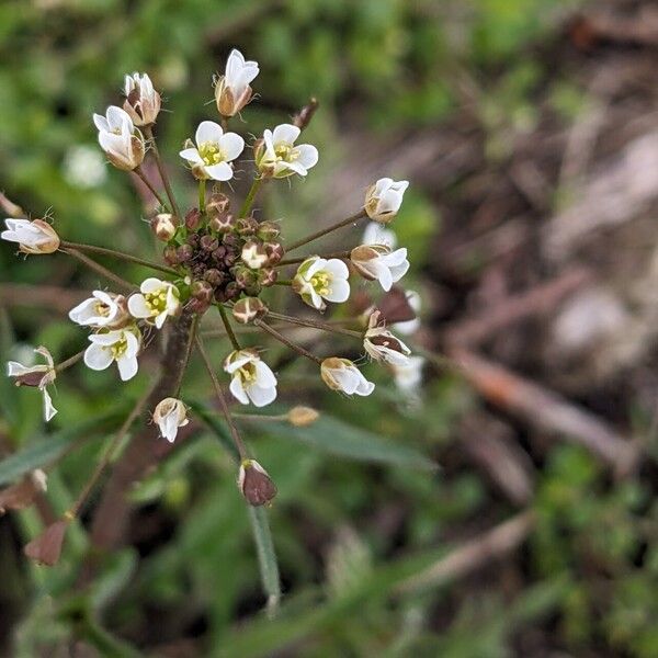
M276 397L276 377L253 350L236 350L224 362L224 370L232 375L229 390L248 405L264 407Z

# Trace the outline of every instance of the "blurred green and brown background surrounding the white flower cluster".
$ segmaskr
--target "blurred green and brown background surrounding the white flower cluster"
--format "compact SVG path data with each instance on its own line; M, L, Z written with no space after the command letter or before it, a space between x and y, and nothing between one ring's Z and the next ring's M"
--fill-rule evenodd
M234 466L202 426L132 492L126 547L87 590L87 517L57 567L29 563L22 546L68 508L149 367L120 387L76 366L48 428L39 396L3 379L0 451L23 456L0 462L0 485L43 465L48 492L0 518L2 655L658 656L656 4L5 0L0 189L67 239L155 257L148 194L105 166L91 114L148 71L160 150L193 204L178 150L216 118L212 76L232 47L261 67L245 136L320 102L305 133L318 167L260 204L288 239L354 212L382 175L410 181L394 228L421 297L422 383L367 365L375 395L342 399L270 348L281 409L322 418L245 428L280 491L269 619ZM61 254L3 245L2 361L81 350L66 313L98 285ZM206 399L196 364L185 389Z

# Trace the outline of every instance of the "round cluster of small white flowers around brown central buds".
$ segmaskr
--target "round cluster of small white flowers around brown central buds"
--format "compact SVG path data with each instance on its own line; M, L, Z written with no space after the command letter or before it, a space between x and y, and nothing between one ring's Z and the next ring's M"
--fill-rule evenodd
M216 309L225 328L225 336L231 342L224 360L224 372L230 378L228 389L236 402L264 407L277 395L277 379L273 370L262 360L257 349L240 344L239 332L232 328L252 324L262 336L281 341L304 358L311 360L319 370L321 381L332 390L347 396L367 396L375 388L361 372L356 363L344 356L317 356L303 345L294 343L279 332L276 324L302 325L324 331L350 336L358 339L356 352L364 352L373 361L390 368L400 382L409 368L418 378L419 367L412 365L409 348L397 338L389 327L408 333L417 328L415 307L417 296L406 294L394 286L407 273L409 261L405 248L396 249L396 236L389 225L402 203L407 181L383 178L373 183L363 196L361 208L351 217L338 224L316 230L307 238L294 243L282 236L283 220L260 217L252 211L263 184L276 179L306 177L318 162L318 150L310 144L300 143L316 104L304 109L293 123L283 123L266 128L260 138L247 145L245 137L228 129L229 120L240 113L252 100L251 84L259 75L256 61L248 61L232 50L226 70L215 82L215 100L219 112L218 121L202 121L180 150L198 185L198 203L179 209L177 198L167 179L166 169L156 146L154 127L159 118L161 97L146 73L132 73L125 77L123 106L111 105L104 115L94 114L98 140L112 166L132 171L147 184L158 202L157 212L150 217L150 226L162 245L162 262L151 263L132 254L103 247L77 245L60 239L55 229L43 219L30 220L24 217L5 220L7 230L1 238L16 242L25 254L45 254L63 250L80 257L94 266L88 256L102 253L128 262L138 262L151 268L158 276L150 276L139 286L125 282L126 291L121 293L106 290L93 291L91 296L69 313L69 318L90 331L89 345L80 353L84 364L94 371L105 370L116 364L122 381L134 377L138 372L138 358L150 342L147 336L159 331L182 331L183 341L168 341L174 347L164 358L185 367L191 348L196 343L213 377L215 392L223 400L222 387L214 368L207 361L200 334L201 318ZM237 128L236 128L237 129ZM246 150L252 157L245 157ZM143 171L146 157L156 160L164 192L158 192ZM223 191L222 184L236 178L238 171L247 170L253 162L253 178L243 203L234 208L234 201ZM238 168L238 163L242 169ZM208 191L208 185L211 186ZM363 241L350 251L324 253L321 250L290 258L290 252L343 226L353 225L370 218ZM101 274L106 270L97 265ZM315 311L324 313L327 304L347 303L354 285L353 276L366 282L378 282L386 293L384 298L362 316L354 317L341 327L306 316L290 316L270 310L273 298L268 290L273 285L286 286L292 293ZM112 276L114 281L121 277ZM401 299L400 299L401 295ZM387 310L392 299L398 299L400 311ZM417 308L416 308L417 310ZM352 328L350 328L350 325ZM170 329L169 329L170 328ZM180 350L186 349L186 355ZM47 386L53 384L56 374L72 365L76 356L56 365L45 348L37 353L46 364L24 366L10 362L9 376L18 385L35 386L44 396L46 420L56 413ZM185 356L183 359L183 356ZM166 366L169 364L166 362ZM177 377L178 386L168 390L152 408L152 420L160 434L169 442L177 438L179 428L189 423L188 408L180 399L182 373ZM223 404L227 421L235 429L230 409ZM314 422L317 413L311 409L296 408L290 421L298 427ZM302 410L302 411L299 411ZM252 504L270 500L276 488L266 472L248 457L234 432L241 466L239 486Z

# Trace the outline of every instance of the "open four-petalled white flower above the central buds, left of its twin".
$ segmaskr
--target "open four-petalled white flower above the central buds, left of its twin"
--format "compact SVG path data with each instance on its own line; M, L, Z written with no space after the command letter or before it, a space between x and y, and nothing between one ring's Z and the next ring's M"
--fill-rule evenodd
M202 121L196 128L196 146L184 148L180 156L192 167L197 179L228 181L234 170L229 164L245 148L245 140L236 133L224 133L214 121ZM190 143L189 143L190 144Z

